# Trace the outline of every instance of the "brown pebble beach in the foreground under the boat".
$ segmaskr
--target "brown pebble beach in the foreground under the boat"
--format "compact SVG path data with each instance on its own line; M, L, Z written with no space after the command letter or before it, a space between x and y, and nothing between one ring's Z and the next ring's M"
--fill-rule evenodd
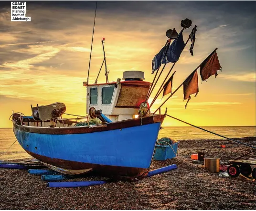
M256 137L236 140L256 146ZM226 148L220 147L223 144ZM176 158L152 161L150 167L157 169L176 164L176 170L135 182L117 181L80 188L47 188L40 176L31 175L26 170L0 169L0 209L255 210L255 179L242 175L222 177L193 164L190 156L199 148L205 148L205 157L217 157L221 162L251 150L220 139L180 140ZM244 159L255 157L256 153L252 153ZM104 179L107 178L90 175L73 180Z

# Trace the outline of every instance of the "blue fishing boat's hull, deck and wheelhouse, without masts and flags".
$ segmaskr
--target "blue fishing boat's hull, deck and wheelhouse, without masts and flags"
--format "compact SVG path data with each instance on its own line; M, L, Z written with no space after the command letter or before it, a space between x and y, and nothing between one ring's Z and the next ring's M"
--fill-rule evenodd
M74 127L59 118L65 105L55 103L32 107L32 116L13 114L14 134L28 154L64 174L146 175L165 115L134 118L150 87L143 79L143 72L127 71L124 81L86 84L87 113L100 124Z

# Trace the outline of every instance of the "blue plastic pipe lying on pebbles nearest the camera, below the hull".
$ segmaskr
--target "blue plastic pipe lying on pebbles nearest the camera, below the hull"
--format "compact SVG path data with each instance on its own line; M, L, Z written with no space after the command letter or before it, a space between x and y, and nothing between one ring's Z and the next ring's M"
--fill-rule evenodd
M47 182L47 188L76 188L102 185L105 183L107 183L107 181Z

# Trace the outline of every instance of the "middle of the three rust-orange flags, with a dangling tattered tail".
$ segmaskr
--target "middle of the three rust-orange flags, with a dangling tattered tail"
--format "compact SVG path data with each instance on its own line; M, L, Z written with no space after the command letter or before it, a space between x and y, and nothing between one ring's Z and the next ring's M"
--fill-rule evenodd
M184 100L189 98L185 105L185 108L187 108L187 104L188 104L189 100L191 99L190 95L192 95L192 94L197 95L198 92L199 92L199 89L198 89L198 78L197 78L197 69L196 69L183 82Z

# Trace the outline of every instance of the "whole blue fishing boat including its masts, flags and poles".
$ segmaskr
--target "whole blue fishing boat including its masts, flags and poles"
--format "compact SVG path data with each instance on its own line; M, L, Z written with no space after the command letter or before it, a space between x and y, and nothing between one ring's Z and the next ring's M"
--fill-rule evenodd
M83 174L93 170L121 179L146 177L164 118L169 116L177 119L167 114L167 108L165 113L161 114L161 106L182 85L184 100L188 99L187 106L191 99L190 95L197 95L199 92L198 68L202 81L212 75L216 77L217 71L221 70L216 48L174 92L171 91L175 72L170 79L168 76L189 40L192 42L190 53L193 55L196 26L193 27L187 42L184 43L182 35L182 32L191 25L192 21L185 19L181 21L182 30L179 34L175 28L166 32L168 40L152 61L152 74L156 72L152 83L144 81L142 71L125 71L123 80L118 78L116 82L109 82L103 38L104 60L98 76L105 63L106 83L97 84L97 76L94 84L88 84L89 63L87 82L83 83L87 89L88 115L63 118L62 116L66 114L63 103L31 106L32 116L13 113L13 131L21 147L32 157L42 161L45 166L64 174ZM172 63L171 69L149 106L149 96L167 63ZM159 71L161 64L164 65ZM161 93L162 97L169 96L155 112L151 113L150 107ZM85 122L79 123L82 119Z

